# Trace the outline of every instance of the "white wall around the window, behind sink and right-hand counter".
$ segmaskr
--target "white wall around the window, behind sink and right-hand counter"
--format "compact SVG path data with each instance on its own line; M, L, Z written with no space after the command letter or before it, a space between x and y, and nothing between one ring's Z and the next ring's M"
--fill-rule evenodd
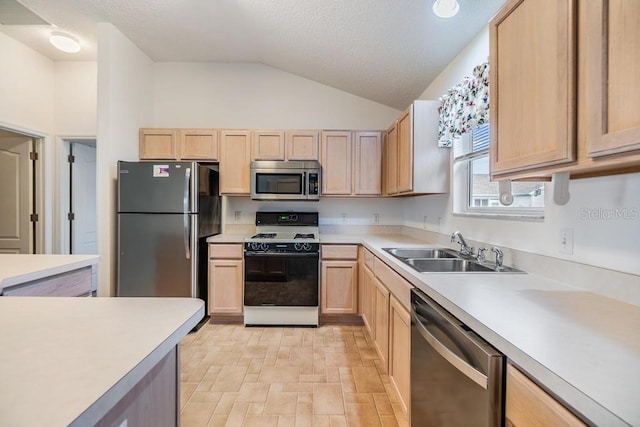
M437 99L470 75L475 65L486 61L488 54L486 30L427 87L421 98ZM442 195L404 200L404 224L445 234L460 230L471 240L640 274L640 174L572 180L569 191L570 202L557 206L547 184L544 222L453 216L451 195ZM565 227L573 228L572 255L559 253L560 230Z

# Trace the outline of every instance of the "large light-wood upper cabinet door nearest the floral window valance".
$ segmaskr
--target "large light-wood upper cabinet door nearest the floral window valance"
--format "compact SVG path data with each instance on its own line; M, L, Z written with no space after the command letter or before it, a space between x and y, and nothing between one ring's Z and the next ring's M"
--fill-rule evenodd
M491 175L576 159L575 0L510 0L490 23Z

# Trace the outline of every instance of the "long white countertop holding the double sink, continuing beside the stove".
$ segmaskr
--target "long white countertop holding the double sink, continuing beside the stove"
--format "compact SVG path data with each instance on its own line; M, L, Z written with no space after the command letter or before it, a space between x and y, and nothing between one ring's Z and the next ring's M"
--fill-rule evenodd
M321 233L320 241L363 244L596 425L640 426L639 306L531 271L418 273L382 248L438 245L405 235Z

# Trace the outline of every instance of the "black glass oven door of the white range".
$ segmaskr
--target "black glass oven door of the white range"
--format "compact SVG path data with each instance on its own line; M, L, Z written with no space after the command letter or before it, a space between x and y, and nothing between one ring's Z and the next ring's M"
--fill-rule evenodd
M317 307L318 252L245 252L244 305Z

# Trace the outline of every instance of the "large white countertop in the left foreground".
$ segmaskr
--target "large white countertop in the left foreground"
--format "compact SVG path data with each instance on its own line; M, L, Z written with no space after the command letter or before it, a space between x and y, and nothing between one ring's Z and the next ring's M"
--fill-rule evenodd
M93 425L204 316L192 298L0 298L0 425Z

